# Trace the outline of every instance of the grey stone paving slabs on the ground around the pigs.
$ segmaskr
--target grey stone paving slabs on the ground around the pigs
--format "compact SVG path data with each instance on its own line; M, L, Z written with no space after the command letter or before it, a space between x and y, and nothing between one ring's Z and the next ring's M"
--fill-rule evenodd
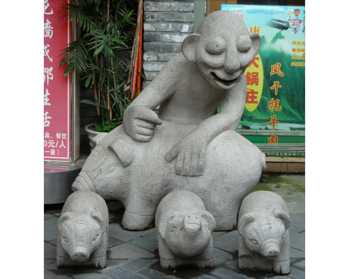
M264 181L263 181L264 180ZM213 232L214 262L211 270L183 267L161 269L155 252L155 227L146 231L126 231L121 227L124 207L118 201L107 202L109 209L109 251L104 269L56 266L57 222L61 208L44 214L44 278L305 278L305 175L262 174L255 190L273 191L288 205L291 226L291 272L250 272L239 269L238 232ZM292 185L293 184L293 185ZM49 210L46 210L49 211ZM55 212L55 213L53 213Z

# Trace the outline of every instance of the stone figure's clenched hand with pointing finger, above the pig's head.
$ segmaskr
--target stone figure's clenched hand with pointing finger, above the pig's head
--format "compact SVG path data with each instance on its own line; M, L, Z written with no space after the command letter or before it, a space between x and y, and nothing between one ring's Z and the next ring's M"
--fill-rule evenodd
M148 142L153 137L156 125L161 125L162 120L150 108L131 106L124 112L123 124L126 134L134 140Z

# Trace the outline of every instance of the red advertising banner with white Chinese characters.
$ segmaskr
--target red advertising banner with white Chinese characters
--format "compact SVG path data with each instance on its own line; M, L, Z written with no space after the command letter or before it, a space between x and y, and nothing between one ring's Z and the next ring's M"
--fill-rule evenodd
M71 77L59 68L62 50L71 42L71 23L61 16L69 0L44 0L44 160L69 161Z

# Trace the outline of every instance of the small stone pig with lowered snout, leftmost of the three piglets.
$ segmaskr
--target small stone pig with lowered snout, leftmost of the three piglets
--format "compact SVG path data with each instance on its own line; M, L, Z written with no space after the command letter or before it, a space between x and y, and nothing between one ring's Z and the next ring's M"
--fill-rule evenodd
M71 194L57 226L57 267L105 267L109 216L101 196L92 191Z

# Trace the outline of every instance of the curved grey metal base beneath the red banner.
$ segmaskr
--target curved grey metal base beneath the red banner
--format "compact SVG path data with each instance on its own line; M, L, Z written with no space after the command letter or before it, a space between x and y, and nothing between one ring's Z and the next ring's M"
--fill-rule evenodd
M64 203L73 193L72 184L79 175L87 155L81 154L76 164L44 163L44 204Z

